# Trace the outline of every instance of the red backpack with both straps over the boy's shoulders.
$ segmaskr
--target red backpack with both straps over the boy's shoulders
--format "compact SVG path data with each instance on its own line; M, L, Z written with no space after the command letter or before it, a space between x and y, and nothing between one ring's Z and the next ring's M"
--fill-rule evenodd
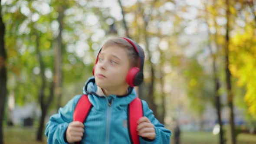
M86 120L91 108L92 104L88 99L88 95L82 95L75 106L73 121L80 121L83 123ZM136 97L128 105L127 109L127 125L131 144L139 144L139 136L136 129L138 126L137 121L141 117L143 117L143 105L142 101ZM79 142L76 144L79 144Z

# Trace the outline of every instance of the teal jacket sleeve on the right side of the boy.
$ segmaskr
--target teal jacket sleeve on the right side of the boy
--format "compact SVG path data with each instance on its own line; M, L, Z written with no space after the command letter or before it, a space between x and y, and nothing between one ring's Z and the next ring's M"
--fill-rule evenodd
M148 108L146 101L141 100L143 104L144 116L147 117L152 124L154 124L156 137L154 140L149 140L144 137L139 137L141 144L170 144L171 141L171 131L164 128L164 125L161 124L153 115L153 111Z

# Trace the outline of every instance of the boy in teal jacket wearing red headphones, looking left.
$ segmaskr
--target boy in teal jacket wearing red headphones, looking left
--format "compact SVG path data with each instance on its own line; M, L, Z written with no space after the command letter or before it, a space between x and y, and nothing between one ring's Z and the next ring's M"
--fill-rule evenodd
M46 124L48 144L131 144L127 108L136 98L133 86L143 81L144 51L127 38L109 39L98 53L94 77L88 79L83 93L92 108L84 123L73 121L81 95L72 98L59 114ZM140 144L170 144L171 131L154 118L142 100L144 117L137 121Z

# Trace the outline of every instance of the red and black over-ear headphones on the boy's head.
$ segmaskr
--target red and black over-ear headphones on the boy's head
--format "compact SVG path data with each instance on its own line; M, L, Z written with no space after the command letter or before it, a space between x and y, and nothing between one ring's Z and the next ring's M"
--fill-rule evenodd
M128 85L130 86L137 86L140 85L143 82L144 76L143 76L143 65L144 65L144 56L143 56L143 52L141 52L141 49L138 49L140 46L135 43L135 41L133 41L132 39L129 38L125 38L125 37L121 37L122 39L125 39L126 41L128 41L129 43L131 43L131 45L134 47L134 49L136 50L136 52L138 52L139 55L139 66L138 67L133 67L129 70L128 75L126 76L126 82ZM100 53L102 49L99 50L98 55ZM98 62L98 56L95 62L95 65ZM92 70L92 74L94 75L94 71L95 71L95 65L93 67Z

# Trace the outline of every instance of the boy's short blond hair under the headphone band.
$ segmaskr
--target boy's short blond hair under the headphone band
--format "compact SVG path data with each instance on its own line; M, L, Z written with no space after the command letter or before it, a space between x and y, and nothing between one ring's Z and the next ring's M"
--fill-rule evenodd
M124 48L128 55L130 66L138 67L140 65L138 52L127 40L120 37L108 39L103 45L103 47L108 47L108 46L119 46L121 48ZM138 47L137 49L140 49L141 52L143 52L143 60L144 60L145 59L144 50L141 47Z

